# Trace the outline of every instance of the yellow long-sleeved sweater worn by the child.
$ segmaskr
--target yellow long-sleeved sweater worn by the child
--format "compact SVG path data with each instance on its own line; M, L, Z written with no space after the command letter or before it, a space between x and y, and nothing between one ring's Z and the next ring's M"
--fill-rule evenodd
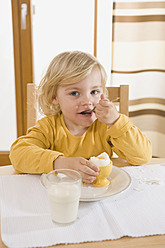
M59 113L44 117L19 137L11 146L10 159L19 172L48 173L61 154L88 159L102 152L112 157L113 151L128 163L140 165L151 159L152 145L125 115L110 128L96 120L82 136L74 136Z

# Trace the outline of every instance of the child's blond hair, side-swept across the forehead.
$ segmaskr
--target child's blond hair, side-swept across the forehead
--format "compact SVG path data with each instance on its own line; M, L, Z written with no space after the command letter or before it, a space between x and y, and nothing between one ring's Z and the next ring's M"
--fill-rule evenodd
M80 51L63 52L50 63L45 76L38 87L40 112L55 115L60 111L59 105L52 104L58 86L74 84L85 78L97 65L101 72L101 83L105 93L106 72L99 61L92 55Z

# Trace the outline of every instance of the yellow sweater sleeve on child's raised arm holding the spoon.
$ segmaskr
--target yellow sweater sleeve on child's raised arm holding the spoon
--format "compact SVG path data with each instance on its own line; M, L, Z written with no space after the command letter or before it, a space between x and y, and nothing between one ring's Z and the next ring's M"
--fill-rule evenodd
M141 165L150 161L152 144L125 115L107 130L108 143L112 150L132 165Z

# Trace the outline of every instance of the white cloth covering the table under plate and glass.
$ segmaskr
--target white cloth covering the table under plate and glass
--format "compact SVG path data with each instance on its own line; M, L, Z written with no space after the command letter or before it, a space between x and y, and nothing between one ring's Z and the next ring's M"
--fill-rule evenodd
M130 187L101 201L80 202L78 219L69 225L51 221L39 175L1 176L2 241L25 248L165 234L165 164L122 169L131 176Z

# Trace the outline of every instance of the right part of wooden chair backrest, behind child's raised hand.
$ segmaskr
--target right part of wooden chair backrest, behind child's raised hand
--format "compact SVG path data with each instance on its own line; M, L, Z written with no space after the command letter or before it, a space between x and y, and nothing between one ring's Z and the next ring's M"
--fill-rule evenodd
M117 97L119 113L129 116L129 85L107 86L108 99L111 101Z

